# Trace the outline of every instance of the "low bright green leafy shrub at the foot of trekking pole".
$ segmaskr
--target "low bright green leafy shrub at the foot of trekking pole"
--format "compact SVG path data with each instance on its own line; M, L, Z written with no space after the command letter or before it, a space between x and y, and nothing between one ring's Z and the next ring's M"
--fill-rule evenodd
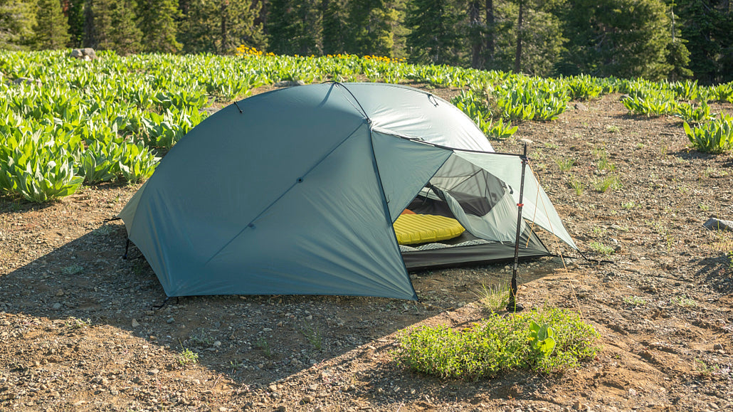
M539 326L539 328L537 328ZM539 340L540 332L553 331ZM493 315L463 330L422 326L399 334L396 360L440 378L478 379L512 369L559 372L595 357L599 334L575 312L545 307ZM555 343L548 349L547 337Z

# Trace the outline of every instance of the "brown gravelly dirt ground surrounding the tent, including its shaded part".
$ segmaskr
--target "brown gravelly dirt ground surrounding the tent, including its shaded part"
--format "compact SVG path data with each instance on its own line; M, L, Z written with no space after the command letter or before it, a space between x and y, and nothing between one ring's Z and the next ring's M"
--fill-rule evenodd
M520 303L574 309L600 332L581 368L473 382L393 361L405 328L486 317L477 293L508 282L505 264L413 273L420 302L208 296L154 310L155 274L134 248L122 260L125 229L105 223L137 186L97 185L42 206L0 197L0 411L732 410L733 235L702 224L733 220L733 156L689 150L679 119L629 117L619 95L515 136L534 141L531 166L581 250L613 261L550 242L567 268L520 265ZM599 193L609 174L622 187Z

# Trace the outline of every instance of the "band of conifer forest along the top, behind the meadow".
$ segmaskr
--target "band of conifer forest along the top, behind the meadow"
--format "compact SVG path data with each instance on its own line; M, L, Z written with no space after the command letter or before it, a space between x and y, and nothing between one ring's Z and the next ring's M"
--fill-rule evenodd
M0 0L0 48L386 56L532 76L733 80L730 0Z

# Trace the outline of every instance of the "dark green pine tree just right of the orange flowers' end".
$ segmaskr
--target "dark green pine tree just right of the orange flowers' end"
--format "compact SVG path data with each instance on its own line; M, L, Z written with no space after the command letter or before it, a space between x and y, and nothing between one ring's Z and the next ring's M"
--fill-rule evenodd
M458 62L460 15L449 0L413 0L405 24L410 29L407 45L411 59L435 65Z

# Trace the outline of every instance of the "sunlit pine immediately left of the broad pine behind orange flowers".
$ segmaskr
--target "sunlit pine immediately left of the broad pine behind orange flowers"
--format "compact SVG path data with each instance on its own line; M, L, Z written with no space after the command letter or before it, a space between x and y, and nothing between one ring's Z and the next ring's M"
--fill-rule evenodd
M142 50L176 53L182 45L176 41L177 21L181 17L178 0L140 0L138 27L142 32Z

